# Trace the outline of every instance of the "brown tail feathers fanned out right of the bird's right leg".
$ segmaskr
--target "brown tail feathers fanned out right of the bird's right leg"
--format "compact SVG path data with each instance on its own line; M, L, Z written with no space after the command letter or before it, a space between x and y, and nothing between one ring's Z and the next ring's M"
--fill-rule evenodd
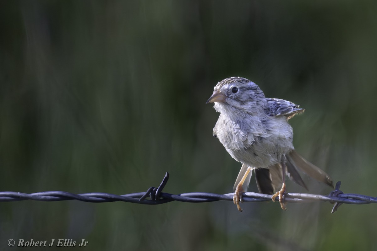
M314 166L309 161L305 160L296 151L291 151L286 155L287 157L287 174L291 180L295 181L300 186L306 188L297 170L300 170L317 181L323 182L331 187L334 187L333 180L322 169Z

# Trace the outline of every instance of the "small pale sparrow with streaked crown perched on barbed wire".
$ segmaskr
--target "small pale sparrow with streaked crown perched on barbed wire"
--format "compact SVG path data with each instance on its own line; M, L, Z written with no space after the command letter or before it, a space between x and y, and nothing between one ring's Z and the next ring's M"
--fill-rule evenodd
M214 89L207 101L215 103L215 110L220 113L213 136L232 158L242 163L233 196L239 211L253 170L259 192L271 194L273 201L279 196L283 210L287 209L283 202L285 175L307 190L299 170L333 187L327 173L294 150L293 129L288 120L305 109L287 100L265 97L261 88L246 78L224 79Z

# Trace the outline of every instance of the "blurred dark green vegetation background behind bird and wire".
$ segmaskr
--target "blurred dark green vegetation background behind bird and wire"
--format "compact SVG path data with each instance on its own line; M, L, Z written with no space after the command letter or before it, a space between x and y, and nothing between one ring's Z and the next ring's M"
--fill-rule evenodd
M297 151L344 192L377 196L376 12L349 0L2 1L0 190L125 194L169 171L166 192L231 192L240 164L212 137L219 114L205 101L242 76L306 108L291 120ZM0 249L10 238L86 239L90 250L377 248L376 205L331 207L7 202Z

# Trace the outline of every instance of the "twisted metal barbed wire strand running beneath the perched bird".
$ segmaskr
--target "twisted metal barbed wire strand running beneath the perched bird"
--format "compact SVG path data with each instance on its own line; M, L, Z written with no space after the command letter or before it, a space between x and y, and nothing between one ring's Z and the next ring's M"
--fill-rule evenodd
M0 192L0 202L10 201L67 201L78 200L84 202L114 202L123 201L138 204L158 205L171 201L181 202L212 202L212 201L233 201L234 193L216 194L216 193L181 193L179 195L164 193L162 189L169 180L169 173L166 173L161 184L158 187L150 187L146 192L129 193L125 195L115 195L111 193L80 193L74 194L63 191L48 191L38 193L20 193L20 192ZM377 203L376 197L360 195L355 193L343 193L340 189L340 181L336 183L335 190L329 195L315 195L310 193L286 193L284 196L285 203L307 203L316 201L327 201L335 203L331 213L337 211L342 204L370 204ZM150 198L150 199L147 199ZM244 202L263 202L271 201L271 195L263 193L245 192Z

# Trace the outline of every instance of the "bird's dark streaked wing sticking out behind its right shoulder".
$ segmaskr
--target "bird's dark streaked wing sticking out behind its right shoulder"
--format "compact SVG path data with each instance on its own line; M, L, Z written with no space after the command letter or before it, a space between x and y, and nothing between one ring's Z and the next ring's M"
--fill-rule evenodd
M304 111L305 109L300 108L299 105L295 105L290 101L284 99L267 98L265 112L270 117L284 115L287 117L287 120L289 120L291 117L295 116L296 114L303 113Z

